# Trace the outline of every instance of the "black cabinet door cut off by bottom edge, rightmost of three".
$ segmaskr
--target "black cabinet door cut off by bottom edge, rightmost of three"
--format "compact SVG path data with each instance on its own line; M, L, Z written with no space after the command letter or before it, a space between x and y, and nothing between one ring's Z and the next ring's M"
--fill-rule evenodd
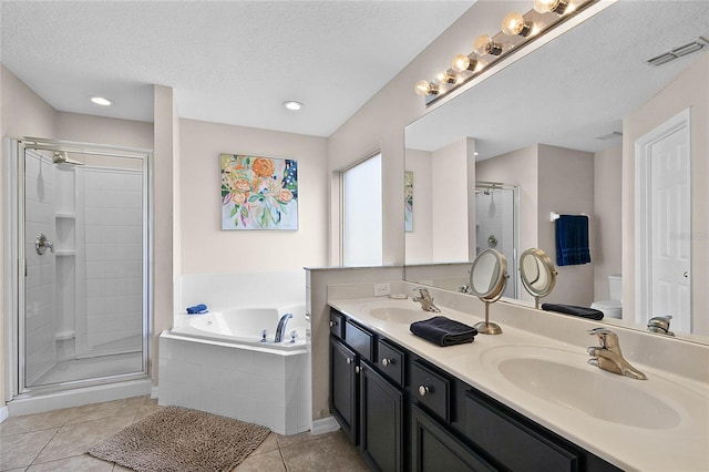
M495 469L414 404L411 407L411 470L470 472Z

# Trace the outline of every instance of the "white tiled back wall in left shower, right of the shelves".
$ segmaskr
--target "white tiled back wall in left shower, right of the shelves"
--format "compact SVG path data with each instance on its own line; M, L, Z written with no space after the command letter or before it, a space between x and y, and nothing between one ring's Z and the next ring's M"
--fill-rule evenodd
M89 166L81 173L86 317L76 349L136 351L142 349L143 176L135 170Z

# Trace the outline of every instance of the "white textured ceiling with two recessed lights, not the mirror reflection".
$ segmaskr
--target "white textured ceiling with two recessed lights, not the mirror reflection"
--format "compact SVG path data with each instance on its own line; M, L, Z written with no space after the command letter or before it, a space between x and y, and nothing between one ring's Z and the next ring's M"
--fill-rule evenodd
M472 3L2 1L0 59L60 111L152 121L160 84L182 117L328 136Z

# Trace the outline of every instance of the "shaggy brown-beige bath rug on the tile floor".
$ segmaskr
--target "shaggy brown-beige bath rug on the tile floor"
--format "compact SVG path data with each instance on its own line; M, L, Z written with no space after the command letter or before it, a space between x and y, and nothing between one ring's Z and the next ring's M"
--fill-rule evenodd
M258 424L167 407L94 444L89 453L140 472L230 471L269 432Z

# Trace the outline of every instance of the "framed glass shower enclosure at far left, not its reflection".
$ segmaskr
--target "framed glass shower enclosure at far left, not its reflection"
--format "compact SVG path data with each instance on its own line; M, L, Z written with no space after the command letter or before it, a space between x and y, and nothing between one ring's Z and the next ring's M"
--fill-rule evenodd
M146 378L151 152L10 146L13 397Z

